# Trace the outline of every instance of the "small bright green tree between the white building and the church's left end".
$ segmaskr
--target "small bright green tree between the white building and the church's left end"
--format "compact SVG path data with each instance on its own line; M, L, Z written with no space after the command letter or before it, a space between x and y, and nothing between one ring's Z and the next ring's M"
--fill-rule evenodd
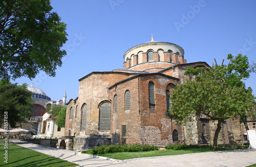
M56 117L56 124L58 127L65 127L67 106L52 105L48 107L46 112L50 113L52 117Z

